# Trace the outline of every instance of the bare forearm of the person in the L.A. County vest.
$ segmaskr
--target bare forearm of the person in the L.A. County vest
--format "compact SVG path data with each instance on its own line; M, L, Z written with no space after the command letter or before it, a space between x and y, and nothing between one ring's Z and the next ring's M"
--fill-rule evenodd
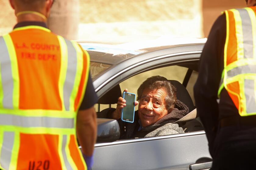
M82 152L91 156L97 138L96 112L93 107L78 111L76 129Z

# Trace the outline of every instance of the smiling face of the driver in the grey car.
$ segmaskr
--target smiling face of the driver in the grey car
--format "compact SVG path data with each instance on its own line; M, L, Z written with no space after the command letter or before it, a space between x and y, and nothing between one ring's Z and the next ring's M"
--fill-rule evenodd
M143 127L154 124L166 114L164 89L144 89L140 98L138 115Z

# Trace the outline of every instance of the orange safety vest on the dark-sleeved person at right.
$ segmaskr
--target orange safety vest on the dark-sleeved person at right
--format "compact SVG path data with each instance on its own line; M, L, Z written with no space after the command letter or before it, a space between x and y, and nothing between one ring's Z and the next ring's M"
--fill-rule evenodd
M256 7L226 10L225 88L240 116L256 114Z

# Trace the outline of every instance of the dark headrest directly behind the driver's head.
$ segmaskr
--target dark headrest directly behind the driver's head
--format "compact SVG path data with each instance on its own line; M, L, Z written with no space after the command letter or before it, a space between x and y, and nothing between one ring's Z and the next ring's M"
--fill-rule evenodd
M177 89L176 97L182 101L189 108L189 112L195 109L194 103L187 91L187 89L177 80L169 80Z

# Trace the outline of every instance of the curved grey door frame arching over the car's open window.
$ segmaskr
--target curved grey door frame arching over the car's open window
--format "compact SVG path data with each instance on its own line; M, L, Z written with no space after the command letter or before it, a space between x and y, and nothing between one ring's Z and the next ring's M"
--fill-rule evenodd
M93 82L95 92L98 97L101 97L114 85L136 74L158 67L198 62L203 45L172 46L123 60L99 74Z

